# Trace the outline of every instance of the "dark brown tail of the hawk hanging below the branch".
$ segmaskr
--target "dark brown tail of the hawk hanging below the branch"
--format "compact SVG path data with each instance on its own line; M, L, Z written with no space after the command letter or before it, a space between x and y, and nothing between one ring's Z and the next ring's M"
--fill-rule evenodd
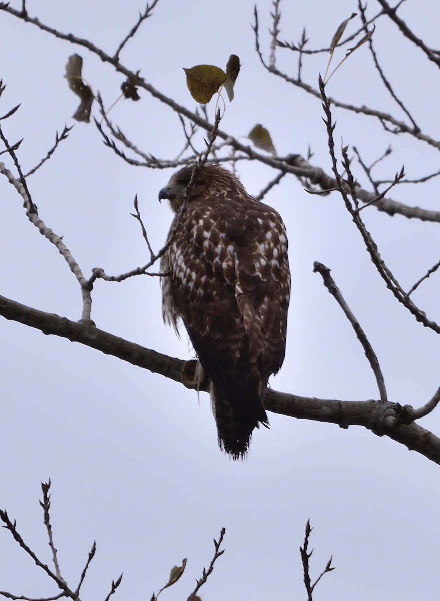
M253 415L240 415L229 401L211 385L211 402L217 424L218 442L222 451L232 459L245 459L251 442L251 435L258 424L269 427L266 412L261 400L256 399L257 411Z

